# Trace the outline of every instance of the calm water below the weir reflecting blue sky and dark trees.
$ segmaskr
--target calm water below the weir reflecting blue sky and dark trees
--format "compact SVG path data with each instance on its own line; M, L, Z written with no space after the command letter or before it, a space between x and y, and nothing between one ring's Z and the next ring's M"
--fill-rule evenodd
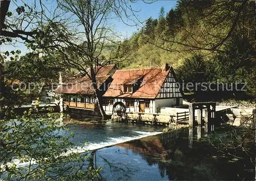
M101 173L106 180L241 179L238 175L253 178L253 174L243 174L244 170L239 169L243 164L230 163L230 158L202 142L205 135L204 127L196 127L118 144L96 151L95 164L104 166Z

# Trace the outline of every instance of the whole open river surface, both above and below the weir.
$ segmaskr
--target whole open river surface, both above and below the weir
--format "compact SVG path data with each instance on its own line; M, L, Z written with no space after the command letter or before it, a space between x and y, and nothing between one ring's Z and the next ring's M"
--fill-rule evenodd
M92 150L116 144L91 152L93 167L103 168L102 179L254 180L249 157L234 159L218 151L201 127L161 134L160 126L113 122L69 128L75 132L72 141L77 146L87 142Z

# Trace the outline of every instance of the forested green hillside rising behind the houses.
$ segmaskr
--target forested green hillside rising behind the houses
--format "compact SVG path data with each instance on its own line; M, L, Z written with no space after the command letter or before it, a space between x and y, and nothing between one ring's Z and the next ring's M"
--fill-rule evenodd
M167 11L167 13L165 13ZM179 0L119 47L121 67L174 66L182 82L246 82L255 94L254 1Z

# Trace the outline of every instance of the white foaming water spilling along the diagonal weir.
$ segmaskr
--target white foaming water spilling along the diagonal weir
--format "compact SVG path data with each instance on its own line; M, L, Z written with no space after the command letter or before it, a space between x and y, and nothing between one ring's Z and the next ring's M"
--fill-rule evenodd
M69 153L72 153L72 152L84 153L84 152L87 152L87 151L101 149L101 148L109 147L109 146L114 146L116 144L120 144L120 143L124 143L124 142L128 142L128 141L133 141L133 140L148 137L150 135L157 135L157 134L162 133L162 132L157 132L157 131L153 131L153 132L134 131L134 132L138 133L139 135L132 136L132 137L109 138L109 140L110 140L109 142L89 143L88 146L71 148L65 154L69 154ZM16 167L26 167L28 165L35 165L36 161L34 159L32 159L31 163L29 163L29 162L21 163L19 160L14 159L9 164L10 165L15 164ZM1 170L2 169L3 169L3 167L1 166Z

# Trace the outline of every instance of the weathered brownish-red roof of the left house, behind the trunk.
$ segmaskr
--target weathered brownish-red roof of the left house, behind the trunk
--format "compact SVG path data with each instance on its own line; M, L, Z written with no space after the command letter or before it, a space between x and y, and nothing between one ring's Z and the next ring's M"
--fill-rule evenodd
M96 82L99 88L108 78L110 78L111 71L114 70L115 65L108 65L104 67L97 67ZM91 79L86 75L69 79L62 85L55 89L55 93L64 94L94 94L94 88Z

